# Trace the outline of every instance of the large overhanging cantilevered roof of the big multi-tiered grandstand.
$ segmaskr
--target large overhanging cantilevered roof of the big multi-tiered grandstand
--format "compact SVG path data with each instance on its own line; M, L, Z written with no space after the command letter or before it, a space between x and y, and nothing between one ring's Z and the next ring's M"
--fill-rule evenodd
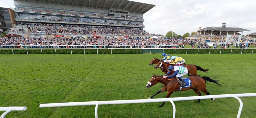
M15 0L17 1L17 0ZM129 12L146 13L154 6L153 4L134 2L129 0L22 0L24 2L44 2L52 4L70 4L86 7L95 7L102 9L119 8Z

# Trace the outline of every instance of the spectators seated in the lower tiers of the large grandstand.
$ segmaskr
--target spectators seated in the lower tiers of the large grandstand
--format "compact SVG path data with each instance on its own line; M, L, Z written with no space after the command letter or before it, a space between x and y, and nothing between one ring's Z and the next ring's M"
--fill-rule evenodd
M20 23L28 28L28 34L32 35L93 35L93 28L98 35L136 35L150 36L142 28L108 27L108 26L84 26L62 24ZM25 32L24 32L25 33Z

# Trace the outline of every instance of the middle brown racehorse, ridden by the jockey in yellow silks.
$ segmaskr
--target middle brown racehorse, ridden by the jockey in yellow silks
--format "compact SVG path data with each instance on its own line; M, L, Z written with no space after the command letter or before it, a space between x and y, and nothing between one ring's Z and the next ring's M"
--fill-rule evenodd
M164 62L163 60L160 60L155 67L155 69L157 69L158 67L160 67L160 69L162 70L162 72L164 72L165 74L167 73L167 69L170 65L167 62ZM201 70L203 72L208 71L209 69L204 69L202 67L196 66L194 64L186 64L184 65L184 67L186 67L188 69L188 76L200 76L196 74L197 70ZM190 75L189 75L190 74Z

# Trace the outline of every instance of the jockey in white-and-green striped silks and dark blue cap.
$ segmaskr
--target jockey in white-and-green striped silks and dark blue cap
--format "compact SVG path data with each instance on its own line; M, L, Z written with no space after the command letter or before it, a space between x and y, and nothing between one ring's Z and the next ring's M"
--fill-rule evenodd
M181 66L169 66L167 70L170 70L170 72L166 73L166 75L163 76L163 78L170 78L176 76L180 81L182 81L182 85L186 85L184 82L182 76L188 74L188 69L186 67ZM174 71L174 73L170 76L167 76L171 74Z

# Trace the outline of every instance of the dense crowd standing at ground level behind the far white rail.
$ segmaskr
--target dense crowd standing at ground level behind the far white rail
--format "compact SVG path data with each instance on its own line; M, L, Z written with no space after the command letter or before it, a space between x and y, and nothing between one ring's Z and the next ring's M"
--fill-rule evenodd
M138 45L140 45L140 48L161 48L163 46L172 46L174 44L179 44L179 47L185 44L187 42L188 44L192 45L192 48L195 43L199 43L197 45L197 48L208 48L208 45L200 44L198 40L195 39L180 39L180 38L169 38L169 39L148 39L148 38L115 38L115 37L105 37L105 38L97 38L97 37L77 37L77 38L64 38L64 37L55 37L55 38L45 38L45 37L2 37L0 38L0 46L20 46L20 45L30 45L30 46L55 46L52 48L56 48L56 45L64 45L64 46L71 46L70 48L75 48L74 46L84 46L84 47L92 47L92 46L98 46L103 45L107 46L107 48L119 48L124 47L122 45L126 45L131 48L137 48ZM183 44L182 44L183 43ZM214 43L213 48L217 48L218 46L221 46L222 48L232 48L232 43L225 44L222 43ZM125 48L127 48L125 46ZM137 46L137 47L136 47ZM155 47L157 46L157 47ZM241 48L248 48L250 46L250 43L241 43L239 44ZM238 47L238 46L237 46ZM59 47L58 47L59 48ZM183 47L184 48L184 47Z

